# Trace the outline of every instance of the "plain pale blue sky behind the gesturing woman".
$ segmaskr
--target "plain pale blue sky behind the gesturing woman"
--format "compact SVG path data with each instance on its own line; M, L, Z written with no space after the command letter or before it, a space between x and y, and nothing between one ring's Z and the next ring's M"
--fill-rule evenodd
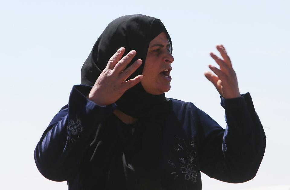
M173 44L169 98L193 102L225 127L219 94L203 76L224 44L240 92L250 92L267 137L256 177L229 184L202 174L203 190L290 184L290 1L1 1L0 189L66 189L45 179L33 152L95 41L115 18L159 18ZM290 185L289 185L290 188Z

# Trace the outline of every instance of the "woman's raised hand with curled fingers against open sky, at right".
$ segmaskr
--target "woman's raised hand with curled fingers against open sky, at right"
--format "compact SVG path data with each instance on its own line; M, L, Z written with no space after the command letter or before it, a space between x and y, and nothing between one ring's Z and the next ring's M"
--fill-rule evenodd
M208 67L217 75L212 72L206 71L205 77L213 83L220 95L224 98L237 98L240 97L240 91L238 87L238 80L236 72L232 67L230 57L227 55L223 45L217 45L218 51L221 53L221 58L214 53L210 53L211 57L220 66L220 69L215 66L208 65Z

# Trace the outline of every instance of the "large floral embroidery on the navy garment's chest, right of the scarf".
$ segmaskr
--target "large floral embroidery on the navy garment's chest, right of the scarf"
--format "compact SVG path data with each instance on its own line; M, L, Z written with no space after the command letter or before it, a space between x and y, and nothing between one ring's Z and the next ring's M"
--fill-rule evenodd
M179 158L179 166L176 167L171 160L167 160L173 171L171 174L174 176L174 179L179 176L184 177L185 180L191 180L196 182L197 172L196 167L196 154L194 148L194 141L187 144L185 140L182 140L178 137L175 137L175 146L173 147L175 152L178 153L181 157ZM181 174L181 175L180 175Z

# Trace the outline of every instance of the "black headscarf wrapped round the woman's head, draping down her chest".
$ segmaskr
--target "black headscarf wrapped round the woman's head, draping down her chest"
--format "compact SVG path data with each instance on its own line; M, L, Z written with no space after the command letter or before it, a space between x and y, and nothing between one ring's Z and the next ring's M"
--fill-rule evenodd
M137 59L143 64L128 78L142 74L149 43L161 32L170 36L159 19L145 15L127 15L112 21L96 41L92 52L82 66L81 84L93 86L108 60L120 48L125 47L137 54L128 64ZM172 53L172 46L170 47ZM125 144L120 144L120 135L115 133L118 118L112 115L98 127L82 168L82 184L85 189L161 189L159 163L161 159L162 130L171 105L165 97L147 93L139 82L127 90L116 102L118 109L138 118L134 135ZM129 126L128 126L129 127ZM104 178L105 176L105 178ZM100 180L105 180L103 186Z

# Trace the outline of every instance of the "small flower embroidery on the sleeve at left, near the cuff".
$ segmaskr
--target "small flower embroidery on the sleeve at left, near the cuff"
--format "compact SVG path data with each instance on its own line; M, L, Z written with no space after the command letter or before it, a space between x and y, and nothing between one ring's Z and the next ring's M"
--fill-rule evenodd
M67 130L68 130L68 138L67 138L67 141L69 143L73 143L76 141L76 137L79 138L82 134L82 130L83 130L83 127L82 127L82 124L81 124L81 121L76 118L76 120L70 120L69 121L69 124L67 126Z

